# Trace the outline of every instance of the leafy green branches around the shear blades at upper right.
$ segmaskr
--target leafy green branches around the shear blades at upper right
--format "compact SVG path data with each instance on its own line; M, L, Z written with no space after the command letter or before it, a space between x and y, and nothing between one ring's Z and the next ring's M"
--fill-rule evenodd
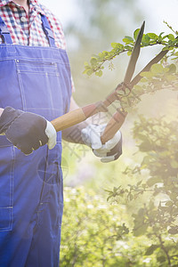
M171 28L170 26L168 26ZM172 29L172 28L171 28ZM113 49L110 52L103 51L98 55L93 55L90 63L85 62L84 73L91 76L95 73L96 76L102 76L102 69L104 69L103 64L106 61L112 61L117 55L127 52L131 54L134 48L135 40L139 33L139 28L134 31L134 37L125 36L123 39L125 44L112 43ZM119 100L120 108L123 111L130 111L139 101L142 100L142 95L145 93L155 93L162 89L178 90L178 73L175 64L170 64L170 59L174 62L178 59L178 52L176 49L178 47L178 38L176 36L177 32L173 34L164 35L161 32L159 35L155 33L148 33L142 36L142 47L151 46L155 44L162 44L164 46L163 50L169 51L166 54L164 60L161 63L154 64L150 68L150 71L144 71L140 74L142 77L139 85L134 85L132 89L130 85L119 86L117 89L117 98ZM112 64L112 63L111 63ZM122 84L121 84L122 85Z

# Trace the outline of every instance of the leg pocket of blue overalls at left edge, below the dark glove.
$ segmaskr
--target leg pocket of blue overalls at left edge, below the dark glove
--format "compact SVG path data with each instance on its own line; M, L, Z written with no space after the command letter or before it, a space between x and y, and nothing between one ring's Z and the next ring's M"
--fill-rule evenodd
M0 231L12 230L13 166L13 147L0 136Z

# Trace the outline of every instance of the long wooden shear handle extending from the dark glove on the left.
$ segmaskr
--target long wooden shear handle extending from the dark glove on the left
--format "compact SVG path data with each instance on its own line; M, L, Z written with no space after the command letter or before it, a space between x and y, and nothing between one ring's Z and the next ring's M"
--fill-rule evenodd
M67 129L73 125L77 125L84 121L86 118L93 116L98 112L106 112L108 109L103 105L102 101L87 105L80 109L75 109L57 117L51 121L57 132Z

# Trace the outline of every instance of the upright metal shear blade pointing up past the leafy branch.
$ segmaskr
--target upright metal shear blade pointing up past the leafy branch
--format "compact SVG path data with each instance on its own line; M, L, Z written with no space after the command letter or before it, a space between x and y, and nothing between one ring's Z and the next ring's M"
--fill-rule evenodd
M136 61L138 60L140 50L141 50L141 42L142 42L142 35L143 35L143 31L144 31L144 26L145 26L145 21L143 21L143 23L142 23L142 27L139 31L139 34L136 38L136 42L134 44L133 53L131 54L131 58L130 58L130 61L128 63L128 67L127 67L126 73L125 73L124 85L130 83L131 78L133 77Z

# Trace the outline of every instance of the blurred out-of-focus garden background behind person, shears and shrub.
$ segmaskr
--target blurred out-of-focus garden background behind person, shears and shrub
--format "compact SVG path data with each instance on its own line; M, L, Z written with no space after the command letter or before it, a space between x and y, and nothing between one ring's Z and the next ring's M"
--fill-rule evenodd
M89 61L93 54L111 49L112 42L122 43L125 36L133 36L134 30L140 28L143 20L146 21L145 33L171 33L164 21L178 30L177 0L41 0L41 3L61 20L76 88L73 96L79 106L104 100L122 82L129 61L128 56L123 54L113 61L112 71L106 65L102 77L86 77L83 74L84 62ZM159 46L142 49L135 73L160 50ZM109 206L108 192L105 190L134 183L138 179L135 176L131 180L130 176L123 174L125 167L134 167L142 161L142 153L137 152L133 138L134 121L138 120L138 116L166 116L172 120L177 113L176 92L164 90L145 95L126 117L121 128L123 155L114 163L102 164L85 146L63 142L66 211L62 226L61 266L169 266L165 263L158 265L156 259L142 256L141 247L148 243L147 239L130 237L125 242L107 241L109 233L117 227L117 221L122 223L125 219L132 224L127 216L140 203L137 201L134 206L125 206L125 203L117 207ZM103 121L102 117L94 119L96 123ZM142 175L147 176L147 171ZM105 251L103 247L107 247ZM118 247L123 247L122 252L118 252ZM129 255L131 247L133 254ZM118 265L117 261L106 260L121 257L122 253L125 257L127 255L130 263L123 260ZM139 259L136 260L138 255Z

